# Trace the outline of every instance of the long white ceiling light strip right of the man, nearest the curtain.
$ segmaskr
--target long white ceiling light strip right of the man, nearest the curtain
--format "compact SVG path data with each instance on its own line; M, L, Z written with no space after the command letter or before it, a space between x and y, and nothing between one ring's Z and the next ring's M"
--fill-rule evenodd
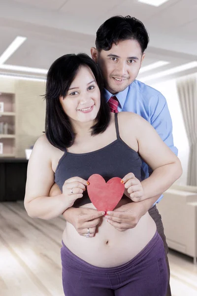
M142 78L140 78L140 81L145 82L147 80L157 79L157 78L160 78L160 77L164 77L164 76L167 76L167 75L179 73L179 72L186 71L186 70L189 70L189 69L193 69L193 68L196 68L196 67L197 67L197 61L193 61L193 62L184 64L184 65L181 65L181 66L178 66L178 67L174 67L174 68L159 72L157 74L152 74L152 75L149 75L149 76L146 76L146 77L142 77Z

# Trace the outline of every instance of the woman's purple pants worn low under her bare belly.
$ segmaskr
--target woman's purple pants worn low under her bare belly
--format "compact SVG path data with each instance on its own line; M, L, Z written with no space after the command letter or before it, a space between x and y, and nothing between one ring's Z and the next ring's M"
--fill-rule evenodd
M168 273L162 238L155 233L129 262L101 268L75 256L63 243L63 288L66 296L165 296Z

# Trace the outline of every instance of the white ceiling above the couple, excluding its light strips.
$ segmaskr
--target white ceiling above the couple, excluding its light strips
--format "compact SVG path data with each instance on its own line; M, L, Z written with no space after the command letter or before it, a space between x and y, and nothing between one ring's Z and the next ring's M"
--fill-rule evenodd
M159 7L137 0L0 0L0 55L15 37L24 36L27 40L5 64L48 69L63 54L90 54L97 29L116 14L134 16L148 29L144 66L170 62L139 78L197 61L197 0L168 0ZM194 72L197 68L170 77Z

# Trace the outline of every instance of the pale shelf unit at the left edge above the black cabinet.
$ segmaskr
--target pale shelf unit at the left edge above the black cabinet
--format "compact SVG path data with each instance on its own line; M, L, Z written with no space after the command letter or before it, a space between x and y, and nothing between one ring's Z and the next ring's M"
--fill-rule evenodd
M0 111L0 157L16 156L16 113L15 96L12 93L0 93L3 111ZM5 125L7 131L5 133ZM1 150L0 149L0 150Z

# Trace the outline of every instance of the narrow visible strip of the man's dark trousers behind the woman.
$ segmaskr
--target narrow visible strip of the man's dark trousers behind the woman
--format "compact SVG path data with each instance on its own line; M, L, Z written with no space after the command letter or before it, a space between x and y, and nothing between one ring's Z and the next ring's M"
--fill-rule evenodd
M168 270L168 285L167 285L167 294L166 296L171 296L171 290L170 290L170 285L169 285L169 278L170 278L170 270L169 270L169 262L168 262L168 258L167 258L167 253L168 253L168 246L166 243L166 238L164 235L164 226L162 223L162 217L157 209L156 206L154 206L153 208L151 208L149 211L150 216L152 217L152 219L155 221L156 225L157 225L157 231L159 233L159 235L161 236L163 243L164 243L164 249L165 249L165 260L166 260L166 264L167 264L167 270Z

